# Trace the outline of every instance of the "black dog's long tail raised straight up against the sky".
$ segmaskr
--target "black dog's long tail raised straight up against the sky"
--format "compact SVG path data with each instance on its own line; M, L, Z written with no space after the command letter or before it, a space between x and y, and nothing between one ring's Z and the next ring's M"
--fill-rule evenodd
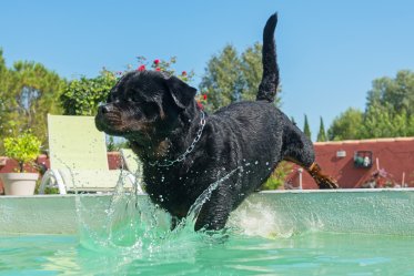
M274 30L277 23L277 13L267 19L263 30L262 63L263 76L259 85L256 101L274 101L279 85L279 68L276 62L276 45L274 42Z

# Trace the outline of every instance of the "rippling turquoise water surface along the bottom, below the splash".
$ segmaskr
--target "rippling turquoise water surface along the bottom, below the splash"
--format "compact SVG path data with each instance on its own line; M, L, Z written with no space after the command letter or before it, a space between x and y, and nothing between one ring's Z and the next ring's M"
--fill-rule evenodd
M0 237L1 275L414 275L414 238L181 233L145 248L88 248L79 236Z

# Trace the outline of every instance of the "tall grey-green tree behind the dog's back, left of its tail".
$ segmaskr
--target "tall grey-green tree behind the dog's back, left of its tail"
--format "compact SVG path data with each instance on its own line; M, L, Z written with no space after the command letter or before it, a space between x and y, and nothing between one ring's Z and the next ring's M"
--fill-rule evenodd
M242 54L239 54L234 47L225 45L208 62L199 86L200 91L208 91L209 94L205 108L215 111L232 102L254 100L262 72L260 43L248 48Z

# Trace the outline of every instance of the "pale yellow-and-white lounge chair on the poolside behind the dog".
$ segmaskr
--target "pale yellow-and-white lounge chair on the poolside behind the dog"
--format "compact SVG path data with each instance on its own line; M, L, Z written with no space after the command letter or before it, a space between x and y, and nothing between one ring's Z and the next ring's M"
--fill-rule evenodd
M134 175L125 170L109 170L105 135L94 125L93 116L48 114L50 170L41 181L39 193L58 187L69 192L113 192L122 182L127 188L137 185Z

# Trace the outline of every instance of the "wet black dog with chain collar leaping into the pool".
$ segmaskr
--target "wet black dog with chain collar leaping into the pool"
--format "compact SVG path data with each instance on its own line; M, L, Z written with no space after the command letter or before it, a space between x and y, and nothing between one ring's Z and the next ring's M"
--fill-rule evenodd
M155 71L130 72L100 106L97 127L123 136L143 163L151 200L185 217L194 201L224 177L204 203L195 229L223 228L231 211L260 187L280 161L300 164L321 188L336 183L320 173L312 142L277 110L279 69L273 14L263 32L263 79L255 102L239 102L212 115L194 100L196 90Z

